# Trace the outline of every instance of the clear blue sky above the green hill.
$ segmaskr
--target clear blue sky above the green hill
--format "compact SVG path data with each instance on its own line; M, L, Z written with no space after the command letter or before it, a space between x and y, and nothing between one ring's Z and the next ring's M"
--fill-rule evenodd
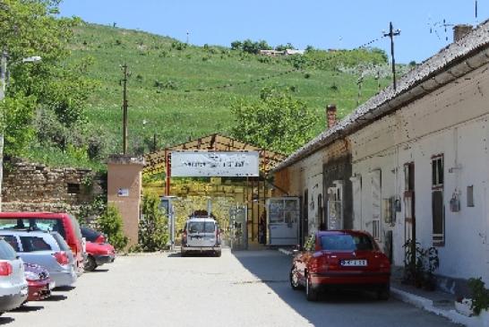
M382 36L389 22L401 30L396 60L420 62L451 42L447 23L484 22L489 0L64 0L65 16L146 30L190 43L229 47L236 39L265 39L319 48L353 48ZM438 23L438 24L437 24ZM434 26L430 33L430 26ZM448 36L449 41L446 41ZM390 42L373 44L388 53Z

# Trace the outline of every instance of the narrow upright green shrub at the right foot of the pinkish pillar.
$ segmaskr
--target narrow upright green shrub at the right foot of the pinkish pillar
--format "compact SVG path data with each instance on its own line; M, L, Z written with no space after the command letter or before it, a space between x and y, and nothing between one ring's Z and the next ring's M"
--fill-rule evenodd
M159 209L157 194L142 197L142 219L139 224L139 244L142 251L154 252L167 247L168 227L165 214Z

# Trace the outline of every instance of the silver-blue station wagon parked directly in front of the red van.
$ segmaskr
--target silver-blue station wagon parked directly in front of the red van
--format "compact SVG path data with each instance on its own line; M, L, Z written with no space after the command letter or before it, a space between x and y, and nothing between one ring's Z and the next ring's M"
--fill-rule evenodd
M0 237L12 245L24 262L45 267L56 287L71 286L77 280L73 253L58 233L0 230Z

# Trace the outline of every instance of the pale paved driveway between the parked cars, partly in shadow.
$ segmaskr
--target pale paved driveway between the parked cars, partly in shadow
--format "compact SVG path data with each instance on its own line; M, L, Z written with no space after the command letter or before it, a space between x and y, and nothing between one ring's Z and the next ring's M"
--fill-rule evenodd
M6 313L9 327L80 326L447 326L442 317L369 294L309 303L287 283L290 257L223 251L220 258L119 257L49 301ZM105 268L105 267L102 267Z

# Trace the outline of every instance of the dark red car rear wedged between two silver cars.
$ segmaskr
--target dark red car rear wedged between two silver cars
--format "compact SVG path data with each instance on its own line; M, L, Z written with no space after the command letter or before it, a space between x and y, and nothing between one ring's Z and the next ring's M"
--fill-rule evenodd
M24 262L25 279L29 288L28 301L39 301L51 296L56 283L49 277L49 271L39 264Z

